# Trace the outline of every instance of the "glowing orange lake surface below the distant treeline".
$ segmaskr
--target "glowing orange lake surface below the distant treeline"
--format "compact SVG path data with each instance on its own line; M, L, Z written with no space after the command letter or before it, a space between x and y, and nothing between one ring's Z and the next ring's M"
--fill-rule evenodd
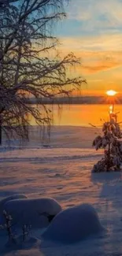
M49 106L51 108L51 106ZM54 125L90 126L91 124L102 126L103 120L109 120L109 105L63 105L59 110L53 106ZM118 121L122 121L122 105L115 106ZM31 124L35 121L31 119Z

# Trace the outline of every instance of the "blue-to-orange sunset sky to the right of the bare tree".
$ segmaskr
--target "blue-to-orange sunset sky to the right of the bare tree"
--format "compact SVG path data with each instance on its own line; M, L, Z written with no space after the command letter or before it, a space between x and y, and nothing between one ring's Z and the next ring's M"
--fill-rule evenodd
M77 74L87 80L83 91L122 93L122 0L72 0L66 12L57 35L62 54L82 59Z

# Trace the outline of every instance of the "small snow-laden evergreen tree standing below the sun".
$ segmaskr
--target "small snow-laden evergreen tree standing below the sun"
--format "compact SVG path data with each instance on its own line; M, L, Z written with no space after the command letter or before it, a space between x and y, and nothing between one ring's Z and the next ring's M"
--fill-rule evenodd
M103 135L98 135L93 141L96 150L104 149L104 158L94 165L92 172L119 171L122 163L122 144L120 139L122 133L120 124L117 123L117 114L109 114L110 121L105 122L102 127Z

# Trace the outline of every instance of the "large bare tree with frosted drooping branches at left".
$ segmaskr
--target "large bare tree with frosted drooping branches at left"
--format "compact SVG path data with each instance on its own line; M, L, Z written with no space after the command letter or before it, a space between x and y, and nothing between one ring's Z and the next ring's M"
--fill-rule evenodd
M0 143L6 135L28 138L28 115L37 124L50 124L50 109L27 104L28 97L70 95L83 82L68 77L79 64L74 54L56 52L54 24L66 16L65 0L0 0Z

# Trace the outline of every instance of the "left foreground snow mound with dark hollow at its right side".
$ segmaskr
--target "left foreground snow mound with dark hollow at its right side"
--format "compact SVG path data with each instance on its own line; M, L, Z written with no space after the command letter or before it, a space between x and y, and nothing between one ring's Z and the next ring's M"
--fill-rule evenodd
M54 198L23 198L5 204L5 210L13 218L12 224L21 227L23 224L31 228L46 227L61 211L61 206ZM4 217L2 217L3 223Z

